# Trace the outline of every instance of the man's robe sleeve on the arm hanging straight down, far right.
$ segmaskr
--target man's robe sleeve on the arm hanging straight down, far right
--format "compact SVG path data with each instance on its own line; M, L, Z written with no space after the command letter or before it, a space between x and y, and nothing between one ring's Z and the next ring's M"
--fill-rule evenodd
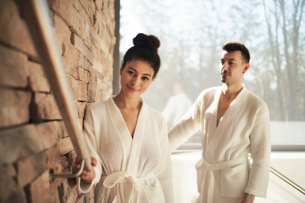
M245 192L266 198L270 173L271 138L269 112L265 103L255 117L250 139L253 163Z

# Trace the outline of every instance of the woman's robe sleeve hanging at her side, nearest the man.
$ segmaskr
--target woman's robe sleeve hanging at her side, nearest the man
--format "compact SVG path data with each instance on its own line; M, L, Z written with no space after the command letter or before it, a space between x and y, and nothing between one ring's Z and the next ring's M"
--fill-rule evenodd
M157 178L163 189L165 202L171 203L174 202L173 172L172 172L172 163L171 163L171 157L170 157L169 145L168 145L167 125L165 119L163 121L163 133L162 133L162 140L160 146L162 150L163 164L157 170L158 171Z

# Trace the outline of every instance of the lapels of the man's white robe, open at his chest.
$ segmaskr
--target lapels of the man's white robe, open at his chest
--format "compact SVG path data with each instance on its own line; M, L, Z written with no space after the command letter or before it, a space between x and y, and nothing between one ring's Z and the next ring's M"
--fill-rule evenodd
M215 150L218 147L218 144L221 142L222 138L223 138L223 131L226 129L226 126L231 123L231 117L238 113L238 108L239 106L242 104L243 100L245 100L246 96L248 95L248 90L246 88L246 86L244 84L242 84L243 89L239 92L239 94L236 96L236 98L232 101L231 105L229 106L229 108L227 109L227 111L225 112L225 114L223 115L223 117L220 119L218 126L216 128L216 130L214 131L214 135L212 136L212 140L210 141L210 143L208 144L207 150L206 150L206 160L209 163L214 163L214 156L215 156ZM218 95L219 93L219 95ZM215 114L213 114L212 116L212 120L210 120L210 125L214 125L216 127L216 122L217 122L217 113L218 113L218 104L219 104L219 97L220 97L220 93L221 93L221 89L220 92L217 91L217 93L215 94L215 100L214 103L217 108L216 111L214 111ZM214 107L215 108L215 107ZM210 126L210 129L214 129L212 128L212 126ZM212 133L213 131L209 132Z

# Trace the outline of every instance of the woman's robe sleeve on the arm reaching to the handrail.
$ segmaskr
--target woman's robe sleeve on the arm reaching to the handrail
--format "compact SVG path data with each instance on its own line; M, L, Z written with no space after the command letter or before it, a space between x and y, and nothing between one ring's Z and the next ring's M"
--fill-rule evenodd
M98 154L98 145L94 131L94 120L90 108L87 108L85 113L85 118L83 123L83 135L85 142L88 146L90 156L93 156L98 160L98 165L94 167L96 177L91 184L83 183L81 182L79 177L76 178L79 190L82 193L87 193L88 191L90 191L93 185L97 184L100 181L102 175L102 164L101 164L100 156Z

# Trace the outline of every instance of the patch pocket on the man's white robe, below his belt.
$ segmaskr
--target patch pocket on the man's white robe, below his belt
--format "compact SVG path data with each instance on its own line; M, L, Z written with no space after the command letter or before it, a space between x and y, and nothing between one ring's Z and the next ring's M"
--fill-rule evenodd
M249 170L247 162L236 167L226 167L220 171L220 196L243 197L248 184Z

